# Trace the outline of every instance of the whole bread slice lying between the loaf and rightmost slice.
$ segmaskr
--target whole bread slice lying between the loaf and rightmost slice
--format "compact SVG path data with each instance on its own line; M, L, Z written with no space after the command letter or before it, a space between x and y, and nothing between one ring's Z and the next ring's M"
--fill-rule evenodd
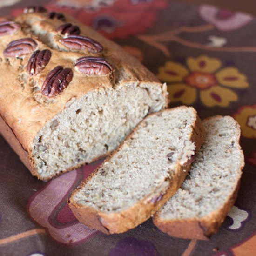
M194 108L148 115L73 192L71 210L80 222L107 234L136 227L180 187L203 139Z

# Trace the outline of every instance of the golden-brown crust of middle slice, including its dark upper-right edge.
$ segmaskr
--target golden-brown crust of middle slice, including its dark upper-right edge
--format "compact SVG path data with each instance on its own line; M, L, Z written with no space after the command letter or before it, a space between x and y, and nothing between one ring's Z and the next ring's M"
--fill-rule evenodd
M178 107L178 108L186 108L186 107ZM165 109L164 111L172 111L172 109ZM157 115L157 113L152 113L150 115ZM141 121L143 122L143 121ZM138 129L140 123L135 127L133 132L127 136L126 140L128 140ZM196 152L201 147L202 142L204 140L204 130L202 127L202 121L198 116L196 116L195 123L193 125L193 132L190 136L191 141L195 142ZM124 141L126 141L124 140ZM124 141L121 145L115 149L105 160L108 161L117 151L122 148ZM104 164L104 163L102 163ZM82 187L84 187L87 182L91 179L92 176L97 174L99 168L97 168L81 185L74 190L72 193L68 204L70 209L73 211L74 215L77 219L94 229L101 230L106 234L113 234L113 233L122 233L127 231L128 229L135 228L137 225L141 224L142 222L146 221L150 216L152 216L157 210L159 210L162 205L168 201L168 199L175 194L177 189L181 186L182 182L184 181L190 166L182 166L180 164L177 165L175 175L169 178L169 187L165 194L163 195L162 199L159 202L152 203L147 202L147 196L145 196L140 202L137 202L132 207L125 209L121 212L117 213L105 213L98 211L96 209L92 209L90 207L82 207L77 205L73 200L73 195ZM88 214L94 214L94 217L91 217L90 222L87 218ZM96 217L97 216L97 217ZM100 224L100 227L99 227Z

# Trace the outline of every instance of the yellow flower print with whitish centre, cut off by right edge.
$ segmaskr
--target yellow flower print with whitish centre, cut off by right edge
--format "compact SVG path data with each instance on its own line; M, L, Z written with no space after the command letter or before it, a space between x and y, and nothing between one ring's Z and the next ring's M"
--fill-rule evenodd
M243 106L233 117L240 124L243 137L256 139L256 105Z

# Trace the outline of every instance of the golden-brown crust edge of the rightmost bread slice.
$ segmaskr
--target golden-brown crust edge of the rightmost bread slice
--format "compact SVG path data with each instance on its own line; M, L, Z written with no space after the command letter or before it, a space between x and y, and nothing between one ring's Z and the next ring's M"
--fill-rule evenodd
M203 121L209 119L217 119L222 117L221 115L215 115L213 117L205 118ZM237 131L239 129L239 124L237 123ZM240 129L238 131L240 133ZM238 138L238 143L239 143ZM240 153L243 155L243 151L240 148ZM240 172L242 173L242 169L244 166L244 162L241 162ZM240 178L237 180L237 183L234 187L233 192L229 195L226 202L215 211L211 212L208 216L204 216L198 219L175 219L175 220L162 220L158 213L153 217L153 222L155 226L161 229L163 232L167 233L170 236L175 236L183 239L201 239L207 240L211 235L216 233L216 231L222 225L225 217L229 213L230 209L236 202L236 197L238 194L239 186L240 186Z

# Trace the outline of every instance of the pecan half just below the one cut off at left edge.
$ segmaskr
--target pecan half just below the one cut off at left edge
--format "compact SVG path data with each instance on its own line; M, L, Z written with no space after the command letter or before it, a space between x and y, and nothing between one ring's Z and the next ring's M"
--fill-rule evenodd
M30 54L37 47L37 43L32 38L22 38L8 43L4 50L5 57L19 57Z

